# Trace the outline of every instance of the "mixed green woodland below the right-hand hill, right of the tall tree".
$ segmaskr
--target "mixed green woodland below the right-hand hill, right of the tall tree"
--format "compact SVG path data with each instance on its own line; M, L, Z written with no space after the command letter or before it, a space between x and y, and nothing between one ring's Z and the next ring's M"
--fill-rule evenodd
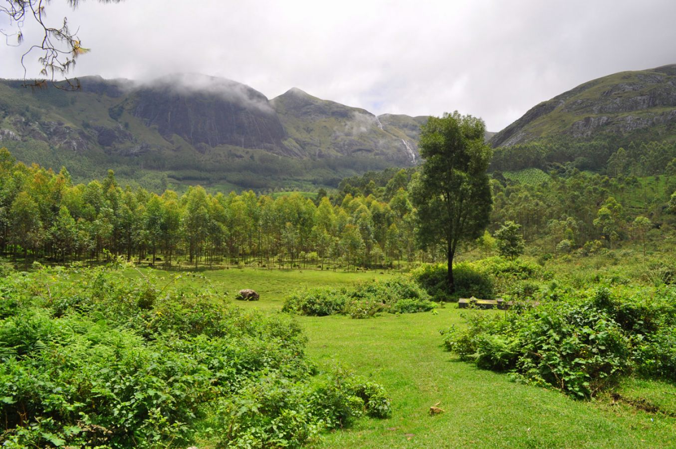
M673 229L674 191L672 176L614 178L575 168L539 184L493 179L491 228L518 222L526 241L542 253L587 255L631 240L645 250L650 233Z

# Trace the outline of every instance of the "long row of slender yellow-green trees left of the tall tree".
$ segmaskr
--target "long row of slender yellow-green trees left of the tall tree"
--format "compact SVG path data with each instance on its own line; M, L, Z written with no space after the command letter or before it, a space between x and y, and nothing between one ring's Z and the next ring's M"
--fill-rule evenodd
M401 176L400 176L401 178ZM166 265L385 266L434 258L414 243L406 177L387 198L320 191L273 199L253 191L211 195L202 187L161 195L121 187L114 172L74 184L59 172L16 162L0 149L0 252L56 262L106 254Z

